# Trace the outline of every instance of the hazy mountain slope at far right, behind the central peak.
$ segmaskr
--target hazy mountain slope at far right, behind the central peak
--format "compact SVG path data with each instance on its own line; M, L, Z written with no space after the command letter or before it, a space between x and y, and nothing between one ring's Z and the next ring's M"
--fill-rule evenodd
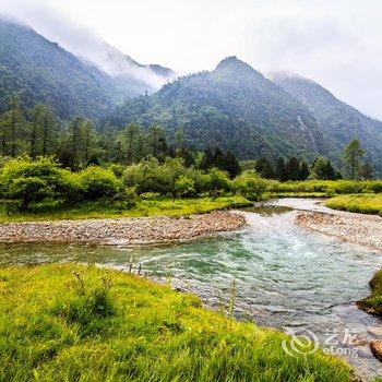
M366 159L382 175L381 121L362 115L311 80L285 73L273 73L271 77L309 107L329 142L332 156L338 159L349 140L357 138L367 153Z

